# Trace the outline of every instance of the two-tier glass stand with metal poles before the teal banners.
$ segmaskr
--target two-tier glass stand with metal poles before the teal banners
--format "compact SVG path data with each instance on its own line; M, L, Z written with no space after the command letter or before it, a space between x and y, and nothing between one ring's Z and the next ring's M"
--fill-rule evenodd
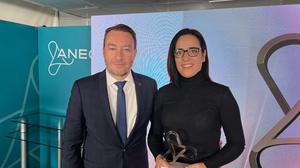
M11 120L20 123L20 130L10 132L5 137L21 140L21 167L26 167L25 142L56 148L57 167L61 167L61 140L65 119L65 117L47 114L32 114ZM83 144L81 145L81 152L82 148Z

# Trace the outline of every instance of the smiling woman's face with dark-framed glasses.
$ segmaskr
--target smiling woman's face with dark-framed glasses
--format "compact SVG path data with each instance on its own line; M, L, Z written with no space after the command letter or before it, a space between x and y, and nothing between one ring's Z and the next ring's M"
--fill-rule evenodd
M191 34L182 35L179 37L175 49L188 50L189 48L201 48L198 38ZM202 62L205 62L206 50L202 53L199 49L197 56L191 57L184 52L181 58L175 59L176 68L183 77L192 77L202 68Z

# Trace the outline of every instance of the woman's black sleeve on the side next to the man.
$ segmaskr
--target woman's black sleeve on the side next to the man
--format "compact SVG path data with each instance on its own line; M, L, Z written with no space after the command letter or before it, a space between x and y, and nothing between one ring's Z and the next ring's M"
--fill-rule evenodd
M162 102L160 101L159 91L157 92L151 114L151 127L148 134L148 146L152 152L154 159L159 155L163 155L163 136L164 128L161 123Z

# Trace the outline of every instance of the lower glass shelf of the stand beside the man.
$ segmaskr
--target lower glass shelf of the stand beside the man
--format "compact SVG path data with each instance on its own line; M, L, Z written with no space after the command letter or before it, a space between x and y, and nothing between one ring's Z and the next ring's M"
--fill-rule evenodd
M21 134L25 134L26 138L22 138ZM32 142L40 145L61 149L60 147L58 147L57 136L58 136L58 130L31 126L31 127L27 127L25 133L13 132L7 134L5 137L13 138L17 140L24 140L26 142Z

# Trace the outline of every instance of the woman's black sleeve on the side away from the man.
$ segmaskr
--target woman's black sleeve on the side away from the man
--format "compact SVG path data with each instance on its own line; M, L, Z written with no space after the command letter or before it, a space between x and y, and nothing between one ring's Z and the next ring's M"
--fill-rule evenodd
M223 93L219 109L226 144L203 163L207 168L220 167L234 161L245 149L245 138L238 104L229 87Z

